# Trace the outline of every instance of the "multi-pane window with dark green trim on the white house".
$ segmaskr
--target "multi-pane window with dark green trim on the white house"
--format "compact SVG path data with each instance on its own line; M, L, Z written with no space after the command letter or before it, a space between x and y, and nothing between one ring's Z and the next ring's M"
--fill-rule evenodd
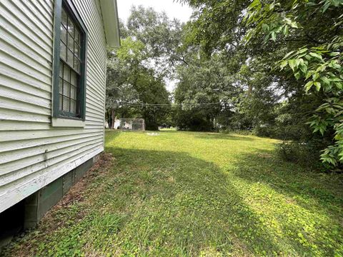
M86 107L86 28L70 0L56 0L53 117L83 120Z

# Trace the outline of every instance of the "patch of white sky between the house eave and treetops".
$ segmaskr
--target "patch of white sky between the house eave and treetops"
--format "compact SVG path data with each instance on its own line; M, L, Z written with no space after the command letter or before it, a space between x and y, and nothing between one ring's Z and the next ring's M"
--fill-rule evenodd
M188 21L192 15L192 9L187 5L177 3L175 0L117 0L119 18L126 21L132 5L152 7L156 11L165 11L169 18L177 18L180 21Z

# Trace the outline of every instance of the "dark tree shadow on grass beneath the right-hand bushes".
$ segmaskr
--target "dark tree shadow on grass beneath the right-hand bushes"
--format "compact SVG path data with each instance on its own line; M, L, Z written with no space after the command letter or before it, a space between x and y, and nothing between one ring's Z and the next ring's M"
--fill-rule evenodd
M261 149L242 154L234 166L232 172L239 178L267 184L290 197L312 199L328 212L339 211L343 207L343 173L320 173L283 161L275 156L274 151Z

